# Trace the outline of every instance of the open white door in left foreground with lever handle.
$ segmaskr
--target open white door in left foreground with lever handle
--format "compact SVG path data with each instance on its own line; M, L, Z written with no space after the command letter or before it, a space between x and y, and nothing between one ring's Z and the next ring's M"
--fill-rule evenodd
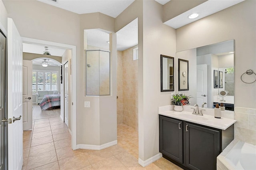
M12 20L8 18L7 41L7 107L8 107L8 169L21 170L22 146L22 40ZM14 121L13 118L20 118Z

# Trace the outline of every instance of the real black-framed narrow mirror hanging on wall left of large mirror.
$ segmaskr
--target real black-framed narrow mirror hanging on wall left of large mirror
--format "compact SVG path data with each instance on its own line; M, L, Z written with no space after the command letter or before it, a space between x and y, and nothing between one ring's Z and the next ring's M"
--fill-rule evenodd
M174 57L160 55L161 91L174 91Z

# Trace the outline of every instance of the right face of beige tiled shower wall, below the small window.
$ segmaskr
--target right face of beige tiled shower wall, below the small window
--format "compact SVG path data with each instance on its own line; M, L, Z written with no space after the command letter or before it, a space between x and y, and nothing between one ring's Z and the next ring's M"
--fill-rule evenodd
M123 51L123 124L138 130L138 60L133 60L133 49Z

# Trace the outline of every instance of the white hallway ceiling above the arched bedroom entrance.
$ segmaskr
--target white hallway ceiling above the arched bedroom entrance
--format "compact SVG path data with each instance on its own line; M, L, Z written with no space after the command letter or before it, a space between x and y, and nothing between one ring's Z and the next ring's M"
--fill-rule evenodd
M31 44L31 43L22 43L23 44L23 52L25 53L35 53L35 54L43 54L45 51L46 45L38 45L38 44ZM62 57L66 49L58 48L58 47L51 47L47 46L48 51L51 55Z

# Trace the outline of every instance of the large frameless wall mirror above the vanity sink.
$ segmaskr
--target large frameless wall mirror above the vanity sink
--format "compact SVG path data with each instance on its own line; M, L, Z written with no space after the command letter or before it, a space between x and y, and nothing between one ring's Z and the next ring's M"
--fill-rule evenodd
M179 51L176 53L177 65L178 59L189 61L188 80L193 88L187 91L176 88L176 93L191 95L191 105L201 106L206 102L206 107L213 108L216 103L224 103L225 107L230 106L226 110L234 111L234 40ZM182 83L178 80L179 74L176 68L177 86ZM226 91L227 95L222 97L220 91Z

